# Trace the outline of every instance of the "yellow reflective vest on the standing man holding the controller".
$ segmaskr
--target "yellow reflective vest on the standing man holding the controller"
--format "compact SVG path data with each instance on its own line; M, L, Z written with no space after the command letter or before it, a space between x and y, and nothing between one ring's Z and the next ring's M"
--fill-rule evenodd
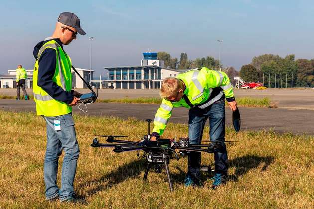
M42 52L47 48L56 50L57 54L56 69L52 80L65 91L71 91L72 88L72 63L70 57L62 50L61 46L55 40L47 41L38 52L38 58L35 62L33 74L33 93L36 102L37 115L55 117L72 112L72 107L64 102L53 99L45 90L37 85L39 69L38 60Z

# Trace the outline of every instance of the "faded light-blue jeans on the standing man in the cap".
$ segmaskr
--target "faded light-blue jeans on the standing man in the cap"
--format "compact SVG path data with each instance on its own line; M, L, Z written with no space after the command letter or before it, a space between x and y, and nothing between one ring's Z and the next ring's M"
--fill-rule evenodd
M74 177L79 145L76 140L72 114L57 117L44 117L47 128L47 149L44 162L44 179L46 199L60 197L61 201L71 198L74 194ZM54 129L54 120L60 120L61 130ZM61 189L57 186L58 159L64 150L61 174Z

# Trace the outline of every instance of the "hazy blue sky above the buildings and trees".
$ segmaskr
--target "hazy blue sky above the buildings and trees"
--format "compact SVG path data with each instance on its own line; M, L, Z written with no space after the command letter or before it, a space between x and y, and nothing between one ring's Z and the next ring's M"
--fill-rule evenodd
M51 36L63 11L81 19L85 36L65 50L74 66L139 65L142 52L213 56L237 70L265 53L314 58L314 2L310 0L1 0L0 73L33 68L34 45Z

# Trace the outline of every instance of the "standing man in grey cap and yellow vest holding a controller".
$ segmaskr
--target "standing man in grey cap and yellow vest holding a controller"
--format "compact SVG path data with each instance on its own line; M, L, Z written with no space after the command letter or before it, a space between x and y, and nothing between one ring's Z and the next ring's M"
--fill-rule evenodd
M71 90L71 59L63 49L77 34L86 33L80 19L70 12L59 15L51 37L34 48L36 59L33 74L33 93L37 115L46 121L47 145L44 161L46 199L75 200L74 177L79 145L76 140L72 106L78 103L80 93ZM58 159L64 150L61 188L57 186Z

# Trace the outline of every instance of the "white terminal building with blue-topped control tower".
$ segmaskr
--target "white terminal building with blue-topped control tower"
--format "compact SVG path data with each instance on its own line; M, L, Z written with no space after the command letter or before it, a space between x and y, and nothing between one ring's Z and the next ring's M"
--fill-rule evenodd
M109 71L108 86L114 89L160 89L164 78L186 70L166 68L156 52L144 52L141 65L104 67Z

